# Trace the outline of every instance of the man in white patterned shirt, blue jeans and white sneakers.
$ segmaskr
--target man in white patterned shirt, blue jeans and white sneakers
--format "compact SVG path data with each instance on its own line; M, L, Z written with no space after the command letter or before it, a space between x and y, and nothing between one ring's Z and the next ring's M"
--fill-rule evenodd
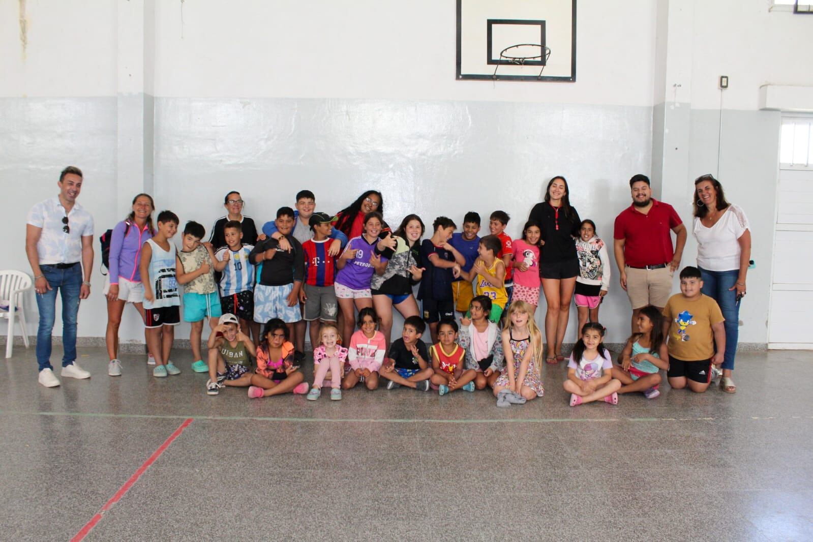
M68 166L59 175L59 195L28 211L25 252L34 271L34 291L40 323L37 328L39 381L46 388L59 386L50 364L51 331L56 318L56 295L62 297L62 375L86 379L90 373L76 365L76 315L79 300L90 295L93 270L93 217L76 203L82 189L82 171ZM85 275L83 280L82 271Z

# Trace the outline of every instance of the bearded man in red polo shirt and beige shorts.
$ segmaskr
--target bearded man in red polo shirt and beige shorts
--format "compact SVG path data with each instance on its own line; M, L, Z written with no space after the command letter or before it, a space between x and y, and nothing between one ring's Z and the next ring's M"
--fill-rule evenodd
M686 227L675 209L655 200L646 175L629 180L633 205L615 217L615 262L621 288L633 306L633 333L638 313L647 305L663 309L672 294L672 274L680 267ZM672 234L677 236L672 249Z

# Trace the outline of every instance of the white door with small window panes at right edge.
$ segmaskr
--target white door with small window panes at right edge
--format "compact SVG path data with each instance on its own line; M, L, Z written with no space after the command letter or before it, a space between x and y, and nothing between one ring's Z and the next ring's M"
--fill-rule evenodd
M768 348L813 349L813 118L783 117Z

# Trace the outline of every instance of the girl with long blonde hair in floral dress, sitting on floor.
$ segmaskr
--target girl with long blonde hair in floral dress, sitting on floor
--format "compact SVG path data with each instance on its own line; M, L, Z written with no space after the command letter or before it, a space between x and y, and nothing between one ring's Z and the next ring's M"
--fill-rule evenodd
M515 301L508 307L508 325L502 330L506 366L494 382L498 406L521 405L545 394L540 362L542 334L533 321L533 307Z

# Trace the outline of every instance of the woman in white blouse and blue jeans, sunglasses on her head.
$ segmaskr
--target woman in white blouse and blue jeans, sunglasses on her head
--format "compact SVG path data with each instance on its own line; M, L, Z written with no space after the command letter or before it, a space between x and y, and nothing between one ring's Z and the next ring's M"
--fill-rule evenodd
M751 232L745 212L725 201L723 186L711 175L694 180L694 237L702 293L713 297L725 319L725 357L720 389L737 391L731 379L740 323L740 301L746 295L751 258Z

